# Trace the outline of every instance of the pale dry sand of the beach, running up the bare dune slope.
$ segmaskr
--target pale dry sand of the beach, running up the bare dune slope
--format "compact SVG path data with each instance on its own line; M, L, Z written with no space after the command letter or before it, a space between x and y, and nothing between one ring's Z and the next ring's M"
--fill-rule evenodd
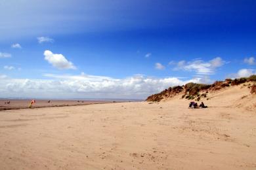
M256 169L256 96L209 97L1 111L0 169Z

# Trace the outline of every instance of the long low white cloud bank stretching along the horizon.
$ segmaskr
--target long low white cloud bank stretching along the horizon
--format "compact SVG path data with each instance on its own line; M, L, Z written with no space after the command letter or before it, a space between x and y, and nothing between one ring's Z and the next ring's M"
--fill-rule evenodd
M202 80L202 78L191 80L181 80L175 77L152 78L143 75L119 79L84 73L81 75L46 74L44 76L45 79L1 79L1 96L145 99L148 95L161 92L170 86Z

